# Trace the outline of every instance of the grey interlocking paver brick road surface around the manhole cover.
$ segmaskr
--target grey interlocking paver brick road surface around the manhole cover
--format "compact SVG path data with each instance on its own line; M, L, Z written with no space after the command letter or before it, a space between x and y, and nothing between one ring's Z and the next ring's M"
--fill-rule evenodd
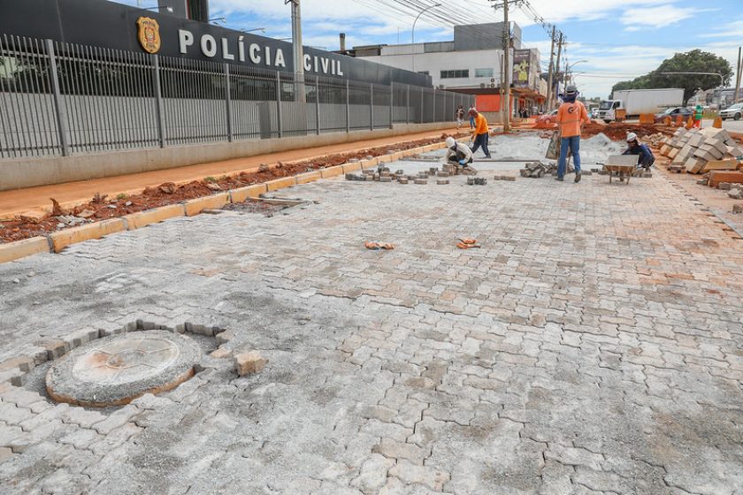
M138 319L269 360L103 410L0 385L0 492L743 493L743 241L658 176L463 182L0 265L0 361Z

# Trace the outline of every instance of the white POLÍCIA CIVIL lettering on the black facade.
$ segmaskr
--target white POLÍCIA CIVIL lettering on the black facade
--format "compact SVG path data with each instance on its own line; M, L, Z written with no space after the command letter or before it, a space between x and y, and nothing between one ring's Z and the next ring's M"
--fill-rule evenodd
M178 30L178 44L180 53L188 53L188 47L194 46L194 34L186 29ZM230 43L227 38L220 38L220 42L211 34L203 34L199 39L199 48L204 57L217 57L218 52L225 60L238 60L245 62L249 60L255 65L267 65L269 67L287 68L287 62L284 58L284 50L280 48L272 50L270 46L261 46L258 43L245 42L245 36L238 36L237 46L231 51ZM221 49L221 50L219 50ZM318 57L304 55L304 70L307 72L319 72L331 74L333 76L342 76L341 61L328 57Z

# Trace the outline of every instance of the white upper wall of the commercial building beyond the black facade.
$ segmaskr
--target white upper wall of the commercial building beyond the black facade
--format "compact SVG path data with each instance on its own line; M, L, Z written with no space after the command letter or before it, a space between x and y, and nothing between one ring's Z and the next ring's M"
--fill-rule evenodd
M503 50L474 50L474 51L445 51L435 53L419 53L423 50L423 44L417 44L416 54L413 57L410 51L413 45L396 45L394 47L384 47L381 56L364 57L364 60L377 62L378 64L390 65L399 69L408 71L424 72L428 71L433 78L434 88L441 84L444 88L477 88L480 83L487 86L491 84L489 77L475 77L475 69L493 69L493 78L495 86L498 87L501 81L501 56ZM386 55L390 53L391 55ZM394 54L394 55L392 55ZM511 58L512 59L512 58ZM415 64L415 67L413 66ZM513 65L510 64L512 68ZM441 79L441 71L462 70L470 71L469 78L459 79ZM510 69L509 69L510 70Z

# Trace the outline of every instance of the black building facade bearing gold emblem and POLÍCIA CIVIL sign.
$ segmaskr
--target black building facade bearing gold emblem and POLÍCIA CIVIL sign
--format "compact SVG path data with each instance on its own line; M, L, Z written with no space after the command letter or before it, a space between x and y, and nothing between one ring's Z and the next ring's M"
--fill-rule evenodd
M108 0L0 0L2 34L295 72L290 42ZM424 74L310 47L303 65L310 76L432 86Z

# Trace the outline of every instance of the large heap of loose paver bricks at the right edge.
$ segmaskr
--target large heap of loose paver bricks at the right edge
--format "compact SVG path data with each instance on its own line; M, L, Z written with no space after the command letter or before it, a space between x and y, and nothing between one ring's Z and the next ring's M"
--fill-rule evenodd
M711 170L735 170L736 156L743 149L732 140L724 129L708 127L702 130L678 129L661 147L661 155L671 159L670 167L676 171L705 173Z

